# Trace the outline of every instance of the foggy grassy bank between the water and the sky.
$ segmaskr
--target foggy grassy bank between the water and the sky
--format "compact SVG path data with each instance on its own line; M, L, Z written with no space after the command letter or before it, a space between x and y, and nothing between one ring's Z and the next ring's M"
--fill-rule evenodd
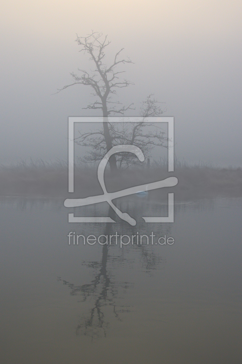
M172 190L179 198L213 195L242 195L242 169L219 168L211 165L188 165L176 163L175 171L167 171L167 164L153 163L147 169L132 168L120 170L115 175L108 169L104 173L107 191L117 191L124 188L159 181L175 176L178 185L166 187L165 193ZM46 163L42 160L26 163L21 161L16 165L0 166L0 195L43 195L87 197L102 194L103 191L97 179L97 167L87 165L75 166L75 192L69 194L67 163L57 161ZM157 191L157 190L156 190ZM154 192L155 193L155 192ZM157 193L157 192L156 192Z

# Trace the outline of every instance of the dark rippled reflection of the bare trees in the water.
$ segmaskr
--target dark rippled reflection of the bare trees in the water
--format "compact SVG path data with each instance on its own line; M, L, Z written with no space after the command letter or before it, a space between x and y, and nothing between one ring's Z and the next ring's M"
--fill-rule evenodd
M109 210L109 216L114 219L114 211ZM142 227L142 226L141 226ZM107 223L104 235L111 234L111 224ZM136 234L137 227L130 227L130 233ZM91 308L86 315L83 315L79 324L76 328L76 335L87 335L91 339L99 339L101 337L106 337L107 329L110 324L110 320L105 319L108 315L105 307L113 306L112 314L118 321L122 321L122 313L130 312L131 306L121 304L120 302L124 300L126 290L132 287L130 282L120 282L115 281L112 270L115 268L117 263L122 265L132 264L131 259L124 258L123 254L121 257L112 257L110 254L110 249L117 248L116 245L103 245L102 247L102 259L101 261L90 261L83 262L88 268L93 268L96 273L94 279L88 283L80 286L76 286L71 282L63 280L58 277L58 281L62 281L64 285L67 285L70 289L70 294L72 296L80 294L81 301L86 301L90 298ZM141 265L145 272L151 274L152 270L156 269L163 260L156 252L150 249L147 245L131 245L127 247L128 249L138 249L141 256ZM107 270L107 264L109 264L109 269Z

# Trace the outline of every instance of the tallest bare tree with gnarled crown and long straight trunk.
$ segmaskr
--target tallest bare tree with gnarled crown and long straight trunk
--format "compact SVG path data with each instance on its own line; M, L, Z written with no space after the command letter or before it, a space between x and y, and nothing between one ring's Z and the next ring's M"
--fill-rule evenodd
M103 114L103 136L105 139L105 149L106 152L112 148L112 139L110 137L110 131L108 127L108 115L120 114L123 115L124 112L131 108L132 104L125 107L122 106L120 102L111 101L111 96L116 94L117 88L127 87L132 82L123 79L119 79L119 74L125 71L116 71L116 67L124 63L132 63L129 58L120 59L120 53L123 48L116 53L113 62L110 66L107 66L105 58L105 48L110 44L107 40L107 36L102 37L102 33L92 32L86 37L79 37L77 35L76 39L79 46L81 46L80 52L84 52L90 55L90 60L95 64L94 71L91 74L85 70L79 69L82 72L81 76L78 76L74 72L71 72L74 82L64 86L61 90L67 87L74 86L77 84L82 84L84 86L91 86L93 89L93 95L97 96L97 100L90 103L84 109L100 109ZM117 169L115 155L110 158L110 168L112 171Z

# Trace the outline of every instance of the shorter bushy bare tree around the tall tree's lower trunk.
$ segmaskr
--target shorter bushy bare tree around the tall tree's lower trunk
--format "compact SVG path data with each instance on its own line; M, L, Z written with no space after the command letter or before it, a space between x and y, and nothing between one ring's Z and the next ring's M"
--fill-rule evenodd
M161 103L153 98L153 94L149 95L141 104L140 116L138 122L109 122L109 133L112 146L115 145L135 145L138 146L145 157L149 156L151 150L155 146L168 147L165 132L148 120L151 116L160 116L164 110ZM91 147L85 157L81 158L82 162L91 163L100 161L106 153L106 141L103 128L90 130L81 133L75 139L78 145ZM128 168L134 164L139 164L139 160L131 153L116 154L116 162L118 168Z

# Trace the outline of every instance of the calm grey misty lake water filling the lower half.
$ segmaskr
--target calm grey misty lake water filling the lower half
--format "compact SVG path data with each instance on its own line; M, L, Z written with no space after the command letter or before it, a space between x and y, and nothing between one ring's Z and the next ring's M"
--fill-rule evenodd
M165 216L165 201L132 195L117 206L136 226L107 203L0 198L0 362L241 364L242 198L175 196L175 222L163 224L142 216ZM68 223L68 212L116 223ZM70 232L136 237L69 245Z

